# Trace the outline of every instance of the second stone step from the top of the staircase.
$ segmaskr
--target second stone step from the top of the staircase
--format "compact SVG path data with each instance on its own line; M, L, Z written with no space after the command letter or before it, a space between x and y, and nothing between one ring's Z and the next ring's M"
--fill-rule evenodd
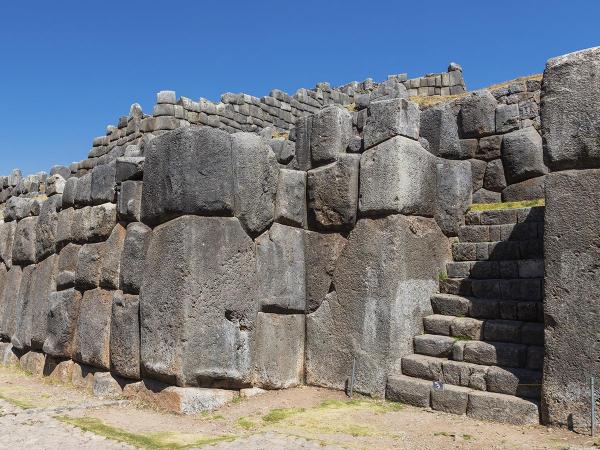
M461 225L460 242L527 241L544 237L544 224L536 222L506 225Z

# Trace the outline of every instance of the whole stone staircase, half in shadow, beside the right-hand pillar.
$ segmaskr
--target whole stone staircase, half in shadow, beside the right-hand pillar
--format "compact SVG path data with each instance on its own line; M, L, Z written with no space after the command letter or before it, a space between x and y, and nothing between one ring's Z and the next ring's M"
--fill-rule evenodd
M414 354L386 397L478 419L539 423L544 208L469 212ZM442 384L434 386L434 381Z

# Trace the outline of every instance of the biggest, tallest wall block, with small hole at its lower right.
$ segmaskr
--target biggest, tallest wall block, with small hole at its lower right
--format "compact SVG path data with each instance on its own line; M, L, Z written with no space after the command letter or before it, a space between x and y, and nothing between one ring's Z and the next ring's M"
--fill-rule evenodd
M248 384L257 311L254 243L236 218L183 216L153 230L140 295L146 376Z

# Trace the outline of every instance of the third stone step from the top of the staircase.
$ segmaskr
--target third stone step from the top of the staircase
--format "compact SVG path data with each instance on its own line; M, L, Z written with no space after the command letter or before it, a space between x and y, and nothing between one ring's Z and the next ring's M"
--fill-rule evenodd
M454 261L506 261L541 259L544 257L542 239L495 242L456 242L452 245Z

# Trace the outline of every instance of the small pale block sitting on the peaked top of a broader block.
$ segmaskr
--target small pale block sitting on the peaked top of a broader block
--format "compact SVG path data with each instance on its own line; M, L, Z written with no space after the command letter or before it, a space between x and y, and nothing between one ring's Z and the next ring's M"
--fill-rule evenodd
M363 130L365 149L393 138L419 139L419 107L403 98L372 102Z

